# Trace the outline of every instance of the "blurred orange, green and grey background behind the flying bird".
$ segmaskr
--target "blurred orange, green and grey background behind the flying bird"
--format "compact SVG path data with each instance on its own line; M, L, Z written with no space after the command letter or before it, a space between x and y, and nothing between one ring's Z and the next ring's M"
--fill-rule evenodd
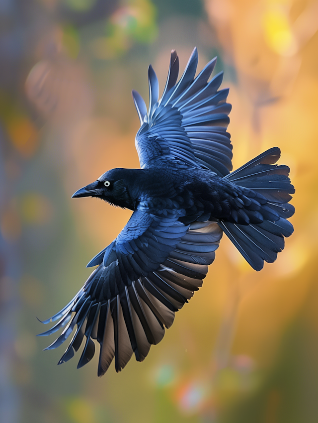
M317 0L0 0L0 421L318 422ZM80 187L139 167L147 68L218 55L234 168L279 146L295 233L256 273L225 239L143 363L97 378L36 338L129 218ZM79 354L77 354L79 358Z

